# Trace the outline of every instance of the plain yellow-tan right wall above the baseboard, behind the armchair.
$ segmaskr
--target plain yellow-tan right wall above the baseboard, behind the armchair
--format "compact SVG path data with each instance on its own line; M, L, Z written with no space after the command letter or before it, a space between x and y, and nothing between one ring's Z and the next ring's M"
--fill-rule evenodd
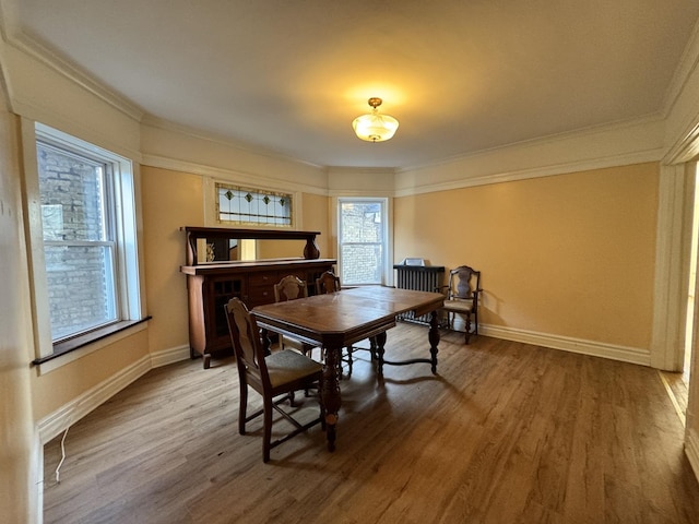
M483 272L481 321L648 349L655 163L395 199L395 260Z

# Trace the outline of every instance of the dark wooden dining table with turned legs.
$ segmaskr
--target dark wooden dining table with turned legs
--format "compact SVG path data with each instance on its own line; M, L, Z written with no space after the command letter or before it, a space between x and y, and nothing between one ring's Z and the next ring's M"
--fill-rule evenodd
M337 364L343 347L370 338L377 355L377 372L383 365L426 362L437 372L439 330L437 310L443 306L439 293L399 289L386 286L363 286L315 295L286 302L258 306L252 310L262 336L280 333L323 349L321 398L325 408L328 449L334 451L336 425L341 407ZM429 314L429 357L386 360L386 332L395 326L396 317L413 311L415 317ZM269 344L269 342L265 342ZM269 347L269 346L268 346Z

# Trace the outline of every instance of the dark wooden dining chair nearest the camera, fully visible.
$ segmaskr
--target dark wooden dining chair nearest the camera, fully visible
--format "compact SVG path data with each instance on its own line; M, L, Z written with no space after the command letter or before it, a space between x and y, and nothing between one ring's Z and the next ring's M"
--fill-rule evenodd
M320 415L306 424L296 420L280 404L289 401L295 406L294 392L319 388L322 381L322 366L296 352L274 352L265 355L260 330L254 317L238 298L224 305L228 331L235 349L240 383L240 407L238 431L246 433L246 424L263 415L262 460L270 461L270 451L296 434L320 424L324 428L325 413L318 395ZM252 415L247 414L248 386L262 395L263 407ZM320 390L319 390L320 391ZM284 395L284 396L281 396ZM272 410L277 410L294 425L294 430L281 439L272 441Z

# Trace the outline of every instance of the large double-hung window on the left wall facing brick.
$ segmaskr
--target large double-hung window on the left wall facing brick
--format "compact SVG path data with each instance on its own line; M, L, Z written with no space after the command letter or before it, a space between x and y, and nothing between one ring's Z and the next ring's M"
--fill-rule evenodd
M54 346L122 321L140 320L130 160L38 123L36 159ZM38 236L37 231L32 235ZM34 271L42 269L35 265ZM44 282L37 276L37 282ZM39 291L36 300L43 299ZM39 357L52 353L52 348L42 348Z

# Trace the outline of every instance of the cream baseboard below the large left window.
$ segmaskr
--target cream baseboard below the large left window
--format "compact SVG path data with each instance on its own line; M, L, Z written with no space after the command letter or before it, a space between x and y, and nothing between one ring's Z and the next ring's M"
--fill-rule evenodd
M91 388L82 395L44 417L37 424L42 445L58 437L70 425L75 424L97 406L107 402L131 382L151 370L151 356L146 355L131 366Z

